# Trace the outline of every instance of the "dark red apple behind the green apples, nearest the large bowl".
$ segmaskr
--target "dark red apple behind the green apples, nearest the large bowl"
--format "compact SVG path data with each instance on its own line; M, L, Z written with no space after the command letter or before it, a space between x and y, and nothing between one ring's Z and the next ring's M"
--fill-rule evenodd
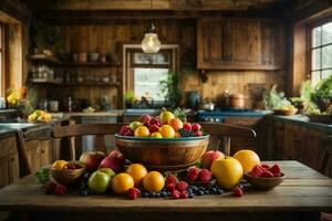
M101 161L100 168L111 168L115 172L121 172L124 170L125 158L117 150L113 150L110 152L107 157Z

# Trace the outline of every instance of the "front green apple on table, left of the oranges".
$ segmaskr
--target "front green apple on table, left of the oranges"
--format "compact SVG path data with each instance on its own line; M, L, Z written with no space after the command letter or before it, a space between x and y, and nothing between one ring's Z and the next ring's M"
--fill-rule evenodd
M87 181L87 187L95 193L103 193L107 190L111 183L111 177L106 172L95 171Z

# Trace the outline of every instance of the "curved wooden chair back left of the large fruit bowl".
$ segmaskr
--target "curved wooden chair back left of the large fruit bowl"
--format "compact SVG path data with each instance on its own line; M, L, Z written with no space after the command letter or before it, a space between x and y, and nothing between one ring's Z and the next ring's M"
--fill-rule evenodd
M53 129L53 138L70 138L71 159L75 159L75 140L74 137L84 135L95 135L95 150L106 152L105 135L114 135L126 124L107 123L107 124L77 124Z

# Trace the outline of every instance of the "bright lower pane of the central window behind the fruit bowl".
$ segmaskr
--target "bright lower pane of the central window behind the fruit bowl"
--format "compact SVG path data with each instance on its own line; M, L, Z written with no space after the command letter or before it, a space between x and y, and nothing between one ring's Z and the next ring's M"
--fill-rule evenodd
M134 69L135 95L142 97L148 94L154 101L165 101L159 82L167 80L168 72L168 69Z

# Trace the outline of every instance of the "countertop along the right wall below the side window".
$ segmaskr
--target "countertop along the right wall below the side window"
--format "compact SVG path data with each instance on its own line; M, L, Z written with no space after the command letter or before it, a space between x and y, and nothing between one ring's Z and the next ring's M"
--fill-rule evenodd
M292 124L301 125L313 129L320 129L328 134L332 134L332 125L310 122L309 118L304 115L300 115L300 114L292 115L292 116L269 115L269 117L271 117L272 119L289 122Z

